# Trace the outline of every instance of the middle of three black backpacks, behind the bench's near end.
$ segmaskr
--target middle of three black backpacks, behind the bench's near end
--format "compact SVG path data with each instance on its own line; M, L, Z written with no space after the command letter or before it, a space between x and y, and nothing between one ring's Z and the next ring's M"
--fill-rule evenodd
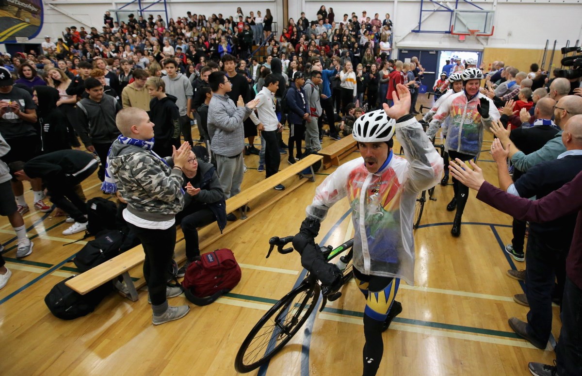
M77 252L73 263L81 273L86 272L117 256L124 240L125 235L119 230L104 231Z

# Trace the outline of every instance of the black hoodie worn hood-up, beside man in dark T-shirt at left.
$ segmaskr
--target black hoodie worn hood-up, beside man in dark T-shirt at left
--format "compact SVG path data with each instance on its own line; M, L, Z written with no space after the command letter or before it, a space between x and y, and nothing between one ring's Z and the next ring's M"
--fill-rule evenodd
M68 120L56 107L59 91L50 86L35 86L38 97L38 123L40 124L41 150L51 152L70 149Z

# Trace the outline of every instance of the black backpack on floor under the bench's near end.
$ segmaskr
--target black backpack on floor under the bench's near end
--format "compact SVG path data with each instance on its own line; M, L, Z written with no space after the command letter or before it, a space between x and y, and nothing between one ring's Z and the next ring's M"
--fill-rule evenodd
M105 283L86 295L81 295L65 285L71 278L73 276L57 283L44 297L44 303L51 313L63 320L73 320L93 312L97 304L113 289L111 283Z

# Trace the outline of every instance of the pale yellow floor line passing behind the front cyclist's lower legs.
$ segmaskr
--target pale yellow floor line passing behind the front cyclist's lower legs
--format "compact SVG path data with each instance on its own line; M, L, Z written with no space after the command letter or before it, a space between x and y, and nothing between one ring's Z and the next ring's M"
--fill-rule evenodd
M361 318L352 318L352 317L345 317L339 315L331 315L327 313L320 313L318 318L322 318L323 320L330 320L330 321L338 321L338 322L347 322L349 324L357 324L357 325L364 325L364 321ZM463 340L473 340L476 342L486 342L486 343L493 343L495 345L506 345L506 346L515 346L515 347L526 347L527 349L537 349L534 345L527 342L526 340L513 340L513 339L502 339L496 337L488 337L488 336L480 336L474 334L466 334L466 333L459 333L459 332L449 332L446 330L438 330L438 329L430 329L424 327L416 327L413 325L402 325L393 323L390 325L391 331L403 331L403 332L411 332L411 333L418 333L430 336L437 336L437 337L446 337L446 338L455 338L455 339L463 339Z

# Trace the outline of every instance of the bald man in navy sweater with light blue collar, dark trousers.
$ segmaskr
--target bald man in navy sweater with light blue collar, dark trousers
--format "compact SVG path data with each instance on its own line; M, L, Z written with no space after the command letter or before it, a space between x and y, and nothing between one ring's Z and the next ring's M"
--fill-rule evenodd
M582 98L580 98L582 100ZM491 147L493 159L498 165L499 185L515 196L536 197L540 200L570 182L582 171L582 115L570 116L562 126L561 141L565 151L558 158L541 162L528 169L512 183L506 167L509 150L495 140ZM529 304L527 322L512 317L509 326L516 334L529 340L538 349L545 349L552 329L552 290L554 281L558 287L554 296L562 296L566 280L566 256L576 223L576 212L555 221L539 224L530 222L527 240L526 296Z

